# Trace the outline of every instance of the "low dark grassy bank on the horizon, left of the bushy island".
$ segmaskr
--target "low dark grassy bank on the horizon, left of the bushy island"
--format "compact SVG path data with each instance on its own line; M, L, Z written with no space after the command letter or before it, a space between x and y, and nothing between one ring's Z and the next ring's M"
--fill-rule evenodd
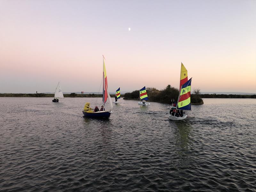
M102 94L63 94L64 97L102 97ZM115 97L115 95L110 95ZM121 95L123 97L124 95ZM0 97L54 97L54 94L46 93L0 93Z

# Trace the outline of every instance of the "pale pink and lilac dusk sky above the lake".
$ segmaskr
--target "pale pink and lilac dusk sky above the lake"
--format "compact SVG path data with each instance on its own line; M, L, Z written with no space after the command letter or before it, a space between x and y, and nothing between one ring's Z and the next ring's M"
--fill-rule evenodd
M129 31L128 28L131 28ZM0 1L0 92L256 92L256 1Z

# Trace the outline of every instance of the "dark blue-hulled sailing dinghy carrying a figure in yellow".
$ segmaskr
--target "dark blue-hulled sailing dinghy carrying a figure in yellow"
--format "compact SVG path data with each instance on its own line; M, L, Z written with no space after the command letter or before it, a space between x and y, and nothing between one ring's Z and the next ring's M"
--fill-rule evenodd
M112 105L110 95L108 93L108 80L107 80L107 73L106 73L106 67L105 67L105 60L104 59L105 58L103 56L103 98L102 98L102 102L103 102L103 109L104 110L103 111L98 111L98 112L93 112L92 110L86 110L86 111L84 110L83 114L84 114L85 117L88 117L88 118L109 118L109 116L112 113L111 109L113 108L113 105ZM111 107L111 109L109 111L105 110L105 104L106 104L107 100L109 100L108 102L110 103L110 107ZM86 106L86 104L85 104L85 106ZM89 107L90 107L90 103L89 103L88 108ZM89 108L89 109L91 109L91 108Z

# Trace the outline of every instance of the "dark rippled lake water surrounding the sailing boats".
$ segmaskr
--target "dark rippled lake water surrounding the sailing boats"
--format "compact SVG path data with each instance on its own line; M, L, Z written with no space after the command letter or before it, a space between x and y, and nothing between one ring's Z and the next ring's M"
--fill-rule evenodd
M114 100L114 99L112 99ZM256 99L204 99L189 118L166 104L0 98L0 191L256 191Z

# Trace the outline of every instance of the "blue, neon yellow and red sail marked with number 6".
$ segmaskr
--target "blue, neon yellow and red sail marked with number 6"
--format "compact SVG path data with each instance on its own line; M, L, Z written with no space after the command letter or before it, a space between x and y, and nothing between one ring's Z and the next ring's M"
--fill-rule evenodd
M177 109L179 110L191 110L190 104L190 92L191 92L191 79L181 86L180 95L178 99Z

